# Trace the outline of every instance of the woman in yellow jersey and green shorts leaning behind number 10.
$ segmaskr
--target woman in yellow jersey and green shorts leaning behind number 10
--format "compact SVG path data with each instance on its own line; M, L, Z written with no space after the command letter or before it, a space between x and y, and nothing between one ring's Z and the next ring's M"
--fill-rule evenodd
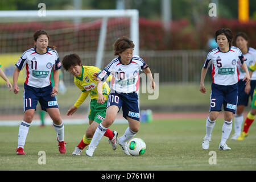
M93 73L100 72L100 69L92 66L82 65L82 61L79 55L72 53L63 58L63 68L74 76L74 82L76 86L82 91L79 99L76 103L71 106L67 112L67 115L72 115L76 112L78 107L84 102L88 94L90 95L90 111L89 111L89 124L90 126L86 130L84 137L82 137L81 142L75 148L72 155L81 155L82 150L90 144L93 138L93 134L97 129L98 125L105 119L106 115L106 104L108 101L108 94L110 88L108 84L102 86L102 92L106 99L104 104L98 104L98 92L97 92L97 81L93 79ZM109 77L109 80L111 77ZM107 130L105 136L109 138L109 143L112 144L112 149L117 148L117 131Z

